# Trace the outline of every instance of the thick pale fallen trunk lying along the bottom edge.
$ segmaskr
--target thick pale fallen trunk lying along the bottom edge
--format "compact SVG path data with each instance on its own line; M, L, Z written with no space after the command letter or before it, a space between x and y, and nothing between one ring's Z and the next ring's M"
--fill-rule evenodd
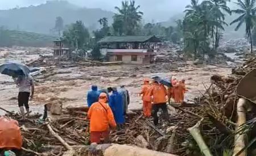
M129 151L129 152L127 152ZM137 146L119 145L119 144L102 144L102 145L90 145L84 146L83 149L68 151L64 153L64 156L80 156L80 155L94 155L94 156L177 156L174 154L162 153L159 151L143 149Z

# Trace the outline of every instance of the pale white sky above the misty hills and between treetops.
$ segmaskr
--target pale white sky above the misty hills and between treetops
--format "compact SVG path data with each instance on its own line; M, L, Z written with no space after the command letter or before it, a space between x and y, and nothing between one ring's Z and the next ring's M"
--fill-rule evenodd
M115 11L115 6L120 6L122 0L67 0L80 7L101 8ZM144 12L144 19L154 22L168 20L175 14L183 12L184 7L190 0L137 0L137 5L141 5ZM0 10L13 9L15 7L26 7L30 5L40 5L46 0L0 0Z

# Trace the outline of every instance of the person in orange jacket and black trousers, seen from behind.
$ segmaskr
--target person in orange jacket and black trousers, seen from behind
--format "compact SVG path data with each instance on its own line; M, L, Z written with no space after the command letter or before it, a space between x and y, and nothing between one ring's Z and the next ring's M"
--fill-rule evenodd
M162 109L164 113L164 118L168 120L168 110L166 105L166 96L167 90L166 87L160 85L157 81L154 81L153 86L150 88L150 96L153 97L153 112L152 116L154 117L154 124L158 124L158 111L159 108Z

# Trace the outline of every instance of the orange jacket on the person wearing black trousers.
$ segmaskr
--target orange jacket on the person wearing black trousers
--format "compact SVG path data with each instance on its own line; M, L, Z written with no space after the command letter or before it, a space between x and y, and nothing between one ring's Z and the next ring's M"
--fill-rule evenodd
M150 96L153 96L154 104L166 103L166 87L158 83L154 83L153 86L150 88Z

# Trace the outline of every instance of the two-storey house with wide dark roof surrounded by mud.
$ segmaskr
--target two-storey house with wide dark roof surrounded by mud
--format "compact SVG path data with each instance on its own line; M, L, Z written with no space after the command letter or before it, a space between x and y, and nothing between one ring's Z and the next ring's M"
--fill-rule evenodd
M150 64L154 61L160 38L156 36L107 36L98 41L108 61L125 64Z

